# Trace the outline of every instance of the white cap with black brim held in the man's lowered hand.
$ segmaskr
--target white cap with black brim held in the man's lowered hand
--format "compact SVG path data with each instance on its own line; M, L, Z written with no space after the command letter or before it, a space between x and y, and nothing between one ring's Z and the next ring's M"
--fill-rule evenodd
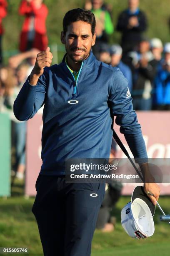
M150 199L147 197L142 186L136 187L131 201L121 211L122 227L133 238L147 238L153 236L155 231L153 222L155 206L150 204L151 201L149 202Z

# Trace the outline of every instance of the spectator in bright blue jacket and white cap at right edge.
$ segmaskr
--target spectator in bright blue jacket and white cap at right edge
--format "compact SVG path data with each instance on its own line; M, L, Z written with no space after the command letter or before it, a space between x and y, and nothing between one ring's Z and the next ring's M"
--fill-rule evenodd
M170 43L164 47L165 58L155 78L154 109L170 110Z

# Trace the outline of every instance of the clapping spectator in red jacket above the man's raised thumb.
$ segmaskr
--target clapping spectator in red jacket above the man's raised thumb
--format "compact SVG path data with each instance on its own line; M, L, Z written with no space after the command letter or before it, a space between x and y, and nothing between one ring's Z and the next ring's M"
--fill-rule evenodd
M22 0L19 8L20 15L25 15L20 35L20 51L36 48L40 51L47 49L48 39L45 20L48 9L43 0Z

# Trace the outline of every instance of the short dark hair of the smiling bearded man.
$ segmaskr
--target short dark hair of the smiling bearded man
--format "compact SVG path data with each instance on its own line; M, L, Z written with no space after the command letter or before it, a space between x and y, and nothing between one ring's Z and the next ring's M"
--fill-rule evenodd
M95 15L90 12L90 10L83 10L80 8L72 9L65 13L62 22L64 34L67 32L67 26L69 26L72 22L79 20L89 23L91 25L92 35L94 35L96 25Z

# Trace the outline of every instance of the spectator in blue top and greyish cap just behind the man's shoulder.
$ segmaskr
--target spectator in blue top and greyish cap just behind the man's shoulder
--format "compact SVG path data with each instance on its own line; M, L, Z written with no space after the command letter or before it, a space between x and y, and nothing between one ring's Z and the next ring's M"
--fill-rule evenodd
M130 92L132 91L132 72L130 68L124 64L122 59L122 47L118 44L113 44L110 47L110 55L111 55L111 65L112 67L118 67L120 71L123 73L124 77L128 80L128 88Z

